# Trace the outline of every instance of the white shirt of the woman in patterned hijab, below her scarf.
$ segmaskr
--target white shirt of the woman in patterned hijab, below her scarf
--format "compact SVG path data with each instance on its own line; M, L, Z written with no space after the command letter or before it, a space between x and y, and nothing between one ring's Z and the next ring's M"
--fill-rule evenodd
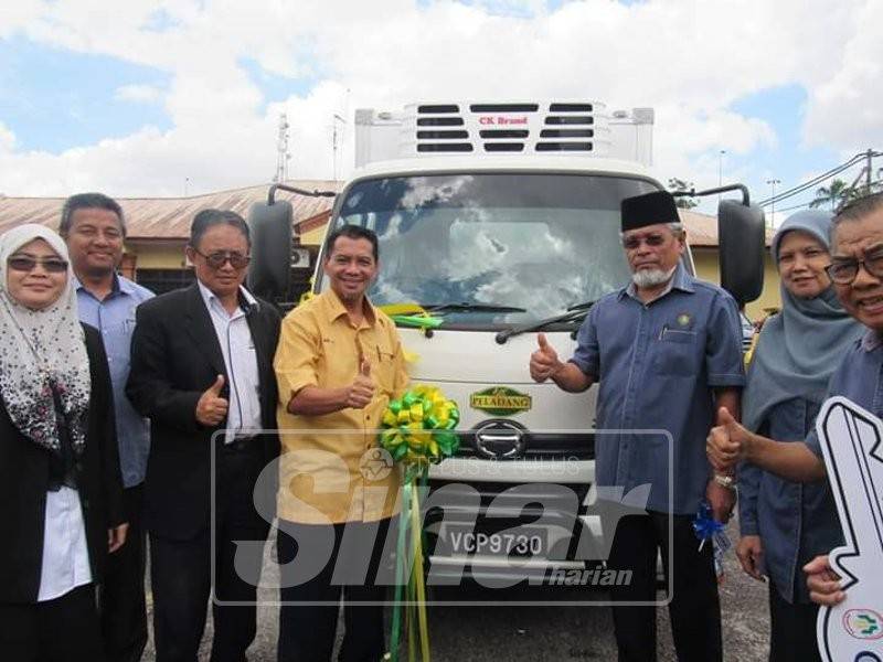
M62 485L57 492L46 492L43 565L36 601L54 600L89 581L92 569L79 492Z

